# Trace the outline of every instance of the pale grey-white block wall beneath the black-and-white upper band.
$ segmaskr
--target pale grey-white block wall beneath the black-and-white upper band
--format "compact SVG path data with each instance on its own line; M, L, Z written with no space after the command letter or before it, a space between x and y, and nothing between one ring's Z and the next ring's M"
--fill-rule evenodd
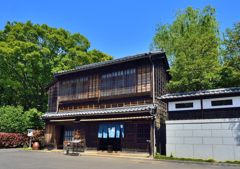
M240 161L240 118L166 121L167 156Z

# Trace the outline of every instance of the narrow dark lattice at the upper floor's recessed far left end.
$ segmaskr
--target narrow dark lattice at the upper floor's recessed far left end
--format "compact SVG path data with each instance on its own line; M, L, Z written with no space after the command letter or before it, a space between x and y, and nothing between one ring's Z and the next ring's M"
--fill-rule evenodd
M57 111L58 82L49 87L48 112Z

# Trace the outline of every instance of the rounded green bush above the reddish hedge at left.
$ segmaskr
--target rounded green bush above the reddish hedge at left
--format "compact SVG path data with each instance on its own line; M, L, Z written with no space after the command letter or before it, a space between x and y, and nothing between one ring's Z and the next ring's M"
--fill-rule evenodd
M37 109L24 112L22 106L0 107L0 131L5 133L26 133L27 129L43 129L44 123L40 120L43 113Z

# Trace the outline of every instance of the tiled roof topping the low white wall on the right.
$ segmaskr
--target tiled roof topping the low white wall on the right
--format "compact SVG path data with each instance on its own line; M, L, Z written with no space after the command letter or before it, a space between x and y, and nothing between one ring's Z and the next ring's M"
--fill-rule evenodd
M207 95L218 95L218 94L229 94L229 93L240 93L240 87L232 88L222 88L222 89L211 89L195 92L186 92L186 93L173 93L166 94L161 97L158 97L160 100L164 99L176 99L176 98L186 98L186 97L196 97L196 96L207 96Z

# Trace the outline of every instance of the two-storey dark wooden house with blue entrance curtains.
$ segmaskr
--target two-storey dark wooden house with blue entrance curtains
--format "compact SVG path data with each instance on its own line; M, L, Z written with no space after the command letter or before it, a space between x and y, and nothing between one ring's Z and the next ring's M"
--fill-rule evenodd
M156 96L168 92L168 69L165 52L155 50L55 73L45 87L45 148L81 139L87 151L153 153L167 111Z

